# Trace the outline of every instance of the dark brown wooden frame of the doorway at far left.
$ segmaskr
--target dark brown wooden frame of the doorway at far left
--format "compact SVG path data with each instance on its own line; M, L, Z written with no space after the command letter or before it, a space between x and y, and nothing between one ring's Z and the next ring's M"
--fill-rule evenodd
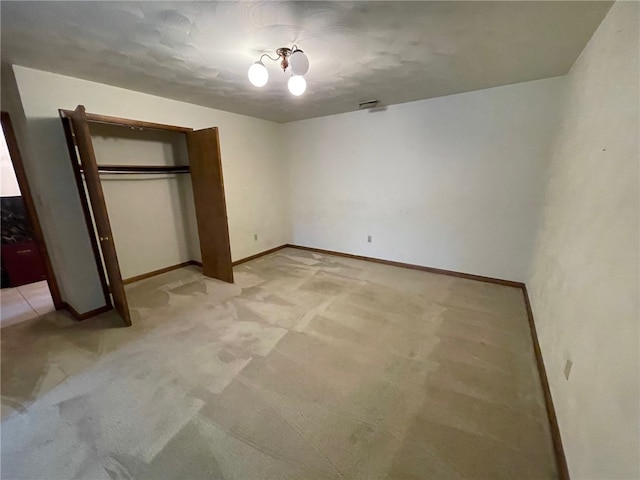
M20 194L24 201L25 210L27 216L31 222L31 228L33 229L34 242L38 247L38 252L42 258L45 269L45 278L49 285L49 292L51 293L51 299L56 310L61 310L65 307L60 295L60 287L56 279L53 266L51 265L51 258L49 257L49 251L47 250L47 244L44 240L42 233L42 227L40 226L40 220L38 219L38 213L36 211L35 203L33 201L33 195L31 193L31 187L29 186L29 180L27 173L24 169L22 162L22 155L20 154L20 148L18 147L18 140L16 139L13 125L11 124L11 117L7 112L0 112L0 118L2 121L2 130L4 132L4 138L7 142L7 148L9 150L9 157L13 165L13 171L16 174L16 180L18 181L18 187L20 187Z

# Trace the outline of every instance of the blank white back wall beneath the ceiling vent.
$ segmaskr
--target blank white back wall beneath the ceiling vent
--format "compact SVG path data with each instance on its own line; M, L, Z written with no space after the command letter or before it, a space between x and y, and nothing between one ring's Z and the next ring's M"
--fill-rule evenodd
M563 87L285 124L293 242L524 282Z

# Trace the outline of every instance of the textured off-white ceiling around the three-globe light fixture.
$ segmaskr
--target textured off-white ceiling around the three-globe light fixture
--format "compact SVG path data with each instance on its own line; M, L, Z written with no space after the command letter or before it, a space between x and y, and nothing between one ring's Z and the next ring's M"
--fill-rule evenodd
M2 61L287 122L563 75L610 6L2 1ZM294 43L302 97L275 62L249 83L261 53Z

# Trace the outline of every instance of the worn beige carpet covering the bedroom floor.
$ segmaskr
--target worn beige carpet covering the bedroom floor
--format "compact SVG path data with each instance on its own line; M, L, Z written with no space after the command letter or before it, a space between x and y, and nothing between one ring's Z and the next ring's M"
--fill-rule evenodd
M522 292L285 249L2 329L2 478L556 478Z

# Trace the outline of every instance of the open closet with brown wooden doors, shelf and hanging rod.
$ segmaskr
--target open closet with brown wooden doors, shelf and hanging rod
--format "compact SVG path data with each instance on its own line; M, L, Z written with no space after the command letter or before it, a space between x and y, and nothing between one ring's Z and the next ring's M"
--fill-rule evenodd
M187 264L233 283L217 128L59 112L107 307L131 325L127 280Z

